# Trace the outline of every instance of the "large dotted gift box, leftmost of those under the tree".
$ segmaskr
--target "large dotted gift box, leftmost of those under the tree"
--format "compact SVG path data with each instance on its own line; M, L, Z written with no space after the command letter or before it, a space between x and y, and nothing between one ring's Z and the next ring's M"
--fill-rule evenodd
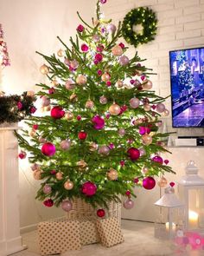
M38 225L41 255L80 250L80 222L50 220Z

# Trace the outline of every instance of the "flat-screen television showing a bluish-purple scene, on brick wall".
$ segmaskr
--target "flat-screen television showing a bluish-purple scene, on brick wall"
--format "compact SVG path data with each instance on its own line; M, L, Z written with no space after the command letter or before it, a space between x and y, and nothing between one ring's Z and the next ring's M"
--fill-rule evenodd
M204 128L204 47L169 52L173 128Z

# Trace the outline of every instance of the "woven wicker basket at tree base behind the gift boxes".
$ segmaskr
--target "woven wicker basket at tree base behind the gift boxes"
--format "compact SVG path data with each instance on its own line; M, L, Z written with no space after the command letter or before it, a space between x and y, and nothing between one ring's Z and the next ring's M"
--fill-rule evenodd
M117 218L119 224L121 222L121 203L110 201L108 204L108 210L106 210L106 216ZM67 213L67 219L96 219L96 209L92 205L86 203L80 198L73 200L73 209Z

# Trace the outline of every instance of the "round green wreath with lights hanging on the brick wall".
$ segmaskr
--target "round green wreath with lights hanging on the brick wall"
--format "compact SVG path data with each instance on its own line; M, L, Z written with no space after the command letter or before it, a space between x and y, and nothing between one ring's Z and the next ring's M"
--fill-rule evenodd
M156 35L156 13L150 8L139 7L132 9L125 17L122 33L127 43L135 47L139 43L148 43ZM133 29L136 26L136 30Z

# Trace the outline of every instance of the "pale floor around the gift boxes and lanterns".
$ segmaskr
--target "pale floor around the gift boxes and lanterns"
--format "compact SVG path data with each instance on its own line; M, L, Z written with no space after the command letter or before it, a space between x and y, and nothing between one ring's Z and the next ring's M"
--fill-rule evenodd
M204 250L192 251L190 248L183 252L173 242L154 238L154 224L147 222L122 220L124 243L111 248L99 244L83 246L81 251L69 251L61 256L203 256ZM22 235L23 244L28 250L15 253L13 256L39 256L37 233Z

